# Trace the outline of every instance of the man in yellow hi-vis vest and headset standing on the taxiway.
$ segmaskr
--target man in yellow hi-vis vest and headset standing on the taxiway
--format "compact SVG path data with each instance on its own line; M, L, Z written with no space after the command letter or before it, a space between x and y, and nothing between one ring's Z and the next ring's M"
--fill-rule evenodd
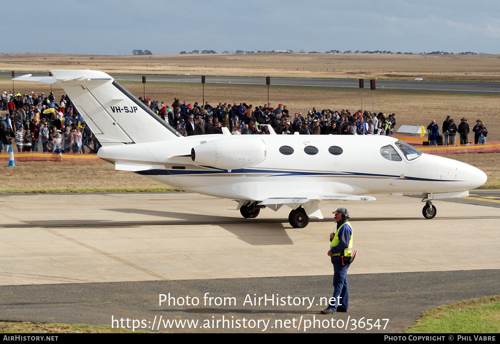
M330 234L330 249L327 252L333 264L333 296L329 299L328 307L321 310L321 314L346 312L349 308L347 269L353 252L352 227L347 209L340 207L333 213L337 225L336 231Z

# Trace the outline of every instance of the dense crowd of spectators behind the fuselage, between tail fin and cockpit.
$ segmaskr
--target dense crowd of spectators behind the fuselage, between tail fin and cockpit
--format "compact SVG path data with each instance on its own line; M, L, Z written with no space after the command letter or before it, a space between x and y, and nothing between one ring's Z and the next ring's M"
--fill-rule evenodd
M193 105L186 101L181 103L174 98L168 106L163 101L139 99L183 136L221 133L223 126L233 134L269 134L269 126L264 124L269 124L278 134L391 135L396 123L394 113L374 114L361 110L351 113L348 109L331 108L319 111L312 107L306 114L291 114L283 104L274 108L271 104L253 107L244 102L239 105L219 102L212 106L205 101L201 106L197 102Z

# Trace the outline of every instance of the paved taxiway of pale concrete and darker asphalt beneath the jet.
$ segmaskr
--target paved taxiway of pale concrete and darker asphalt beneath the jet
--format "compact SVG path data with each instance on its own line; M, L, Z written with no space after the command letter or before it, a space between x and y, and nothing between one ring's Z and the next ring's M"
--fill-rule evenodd
M412 197L324 201L325 220L298 229L285 206L244 219L234 201L194 193L0 195L0 319L129 318L154 330L203 332L259 332L258 320L269 320L264 331L303 332L318 319L306 332L401 331L423 310L500 294L500 209L491 197L434 201L432 220ZM359 253L349 268L349 312L335 314L342 321L331 328L321 321L332 316L318 311L332 291L326 251L339 205L351 214ZM177 303L159 305L160 294ZM264 295L302 303L245 302ZM187 296L198 304L179 305ZM237 327L243 318L253 328ZM385 326L361 329L361 318ZM165 322L172 319L199 322ZM226 327L213 328L217 320ZM341 322L348 325L339 329Z

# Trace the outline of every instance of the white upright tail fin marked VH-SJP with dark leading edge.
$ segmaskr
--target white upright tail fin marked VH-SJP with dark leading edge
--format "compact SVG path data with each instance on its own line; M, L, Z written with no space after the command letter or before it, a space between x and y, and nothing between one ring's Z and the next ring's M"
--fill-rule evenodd
M102 145L174 139L180 134L108 74L51 70Z

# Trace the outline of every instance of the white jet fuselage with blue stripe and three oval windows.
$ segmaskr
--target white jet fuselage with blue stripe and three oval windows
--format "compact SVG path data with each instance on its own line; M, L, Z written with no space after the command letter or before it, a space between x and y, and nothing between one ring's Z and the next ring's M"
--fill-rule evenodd
M98 156L113 163L161 165L164 168L138 173L193 192L248 200L301 197L304 193L452 192L469 190L486 180L481 170L456 160L428 154L408 160L394 146L395 141L377 135L198 135L106 146L99 149ZM218 146L205 149L203 163L195 163L191 149L210 143ZM223 158L231 165L231 158L244 159L245 149L255 145L263 147L260 162L221 167ZM383 157L381 148L387 145L401 156L399 161ZM253 154L258 159L258 149Z

